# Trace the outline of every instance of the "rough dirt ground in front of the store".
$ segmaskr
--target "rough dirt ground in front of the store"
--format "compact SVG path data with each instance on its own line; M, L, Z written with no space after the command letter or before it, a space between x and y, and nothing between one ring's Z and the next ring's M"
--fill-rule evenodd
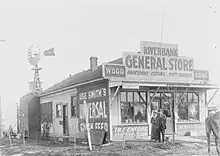
M197 137L205 140L205 136ZM4 138L0 141L1 156L186 156L207 155L207 144L203 141L176 140L171 143L155 143L152 141L137 142L113 142L101 147L93 147L89 151L87 145L75 145L70 143L52 143L48 141L28 141L23 145L22 140L9 140ZM216 155L215 146L212 142L212 154ZM19 155L20 154L20 155Z

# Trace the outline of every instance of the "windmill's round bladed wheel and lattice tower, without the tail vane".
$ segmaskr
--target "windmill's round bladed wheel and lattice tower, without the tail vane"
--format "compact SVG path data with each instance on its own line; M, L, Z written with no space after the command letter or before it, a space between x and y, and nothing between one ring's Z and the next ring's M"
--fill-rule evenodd
M36 95L42 91L39 74L39 71L42 68L39 68L38 66L40 61L40 49L38 46L31 45L28 48L28 61L33 66L32 70L34 71L34 80L29 82L30 92Z

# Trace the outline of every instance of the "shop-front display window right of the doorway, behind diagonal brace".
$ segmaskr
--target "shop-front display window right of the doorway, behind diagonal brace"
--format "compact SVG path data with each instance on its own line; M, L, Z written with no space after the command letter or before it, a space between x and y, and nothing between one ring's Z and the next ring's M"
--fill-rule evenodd
M177 101L183 93L177 93ZM178 121L199 121L199 94L187 93L177 106Z

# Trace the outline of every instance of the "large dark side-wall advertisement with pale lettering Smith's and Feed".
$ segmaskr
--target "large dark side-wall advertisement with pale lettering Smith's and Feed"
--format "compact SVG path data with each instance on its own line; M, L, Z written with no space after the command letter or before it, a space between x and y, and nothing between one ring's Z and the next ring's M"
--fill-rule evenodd
M85 124L85 106L88 109L89 127L91 130L104 130L109 136L109 95L108 82L103 81L85 85L78 88L79 103L79 130L84 131Z

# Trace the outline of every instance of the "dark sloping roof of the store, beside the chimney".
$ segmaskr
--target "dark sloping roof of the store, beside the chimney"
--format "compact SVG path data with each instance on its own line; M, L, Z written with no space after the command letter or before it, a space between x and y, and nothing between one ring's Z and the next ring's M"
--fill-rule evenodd
M111 64L122 64L122 58L119 58L117 60L108 62ZM38 97L41 97L46 94L50 94L51 92L58 91L60 89L64 89L66 87L70 87L73 85L77 85L80 83L85 83L87 81L95 80L98 78L103 78L102 76L102 65L98 66L95 71L91 71L90 69L86 71L82 71L79 73L76 73L61 82L54 84L53 86L49 87L48 89L42 91L41 93L38 94Z

